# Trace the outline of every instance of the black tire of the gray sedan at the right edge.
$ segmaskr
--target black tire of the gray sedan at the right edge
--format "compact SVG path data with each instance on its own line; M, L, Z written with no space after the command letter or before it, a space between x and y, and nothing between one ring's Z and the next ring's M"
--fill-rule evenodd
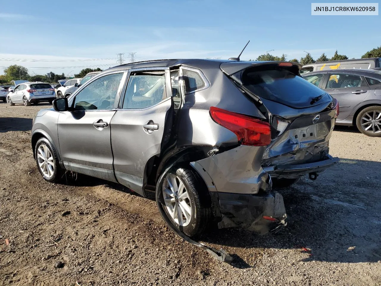
M381 137L381 117L377 119L378 115L381 113L381 106L369 106L364 108L356 117L356 126L359 131L370 137ZM365 114L370 114L372 119ZM376 114L375 118L373 118L373 114ZM367 120L362 119L363 117L369 119L369 122L373 122L373 126L370 127L371 131L365 130L365 128L369 127L370 124L367 124ZM373 127L375 132L373 132Z

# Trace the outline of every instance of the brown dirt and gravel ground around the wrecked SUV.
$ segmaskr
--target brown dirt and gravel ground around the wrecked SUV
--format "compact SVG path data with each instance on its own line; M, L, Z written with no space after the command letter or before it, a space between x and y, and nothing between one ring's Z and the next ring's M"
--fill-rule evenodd
M203 236L234 256L229 265L122 186L80 175L46 183L30 147L41 108L50 106L0 103L0 285L381 285L381 138L337 128L340 163L281 191L289 217L279 235Z

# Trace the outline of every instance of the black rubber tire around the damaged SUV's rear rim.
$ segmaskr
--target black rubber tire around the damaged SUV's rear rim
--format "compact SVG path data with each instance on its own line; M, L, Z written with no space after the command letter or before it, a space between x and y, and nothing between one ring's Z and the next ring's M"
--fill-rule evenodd
M186 226L181 226L172 219L166 205L161 204L168 218L168 221L171 222L171 225L174 228L177 228L179 231L189 237L200 235L210 224L212 218L211 199L207 187L201 181L202 179L199 178L198 174L195 173L194 170L174 168L173 170L170 170L168 174L176 175L184 184L189 195L188 202L192 209L191 220L189 224ZM164 201L162 191L163 185L164 182L159 188L162 201Z

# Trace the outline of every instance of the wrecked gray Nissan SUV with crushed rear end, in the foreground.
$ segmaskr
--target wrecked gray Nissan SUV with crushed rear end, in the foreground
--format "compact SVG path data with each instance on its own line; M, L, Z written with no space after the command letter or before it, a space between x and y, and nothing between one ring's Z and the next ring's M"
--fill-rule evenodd
M155 193L186 236L285 225L282 196L300 176L338 162L328 141L338 101L288 62L172 59L93 77L33 120L32 149L48 182L78 172Z

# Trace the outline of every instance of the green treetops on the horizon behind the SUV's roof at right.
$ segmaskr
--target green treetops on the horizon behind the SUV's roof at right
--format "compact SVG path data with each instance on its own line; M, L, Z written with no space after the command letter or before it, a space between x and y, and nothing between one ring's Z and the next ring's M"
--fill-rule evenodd
M381 58L381 46L374 48L370 51L367 51L364 55L361 56L361 58L362 59L364 59L364 58ZM294 59L290 59L289 61L301 63L304 66L305 64L312 64L312 63L319 62L319 61L339 61L342 59L348 59L348 57L346 55L340 55L336 50L331 58L328 58L325 55L325 53L322 53L322 55L319 58L314 60L314 58L312 58L311 54L307 53L306 56L302 57L300 60L294 58ZM354 58L352 58L352 59L354 59ZM250 61L251 61L251 59L250 59ZM256 61L286 61L286 55L283 54L282 56L279 57L279 56L273 56L273 55L270 55L269 53L267 53L267 54L258 56L258 58L256 58Z

